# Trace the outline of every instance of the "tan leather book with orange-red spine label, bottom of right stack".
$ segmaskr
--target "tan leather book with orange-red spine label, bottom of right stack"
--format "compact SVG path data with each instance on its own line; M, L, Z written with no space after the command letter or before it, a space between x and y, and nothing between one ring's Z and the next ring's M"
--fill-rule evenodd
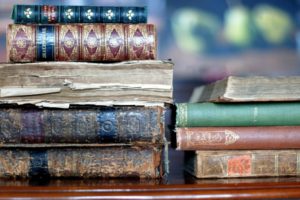
M197 178L299 176L299 150L186 151L186 171Z

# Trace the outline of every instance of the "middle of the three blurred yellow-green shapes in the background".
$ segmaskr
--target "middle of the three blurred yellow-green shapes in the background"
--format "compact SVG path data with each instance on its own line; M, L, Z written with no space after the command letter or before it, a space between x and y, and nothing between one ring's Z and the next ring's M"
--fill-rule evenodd
M250 11L244 6L235 6L225 13L224 36L227 41L239 47L249 46L253 40Z

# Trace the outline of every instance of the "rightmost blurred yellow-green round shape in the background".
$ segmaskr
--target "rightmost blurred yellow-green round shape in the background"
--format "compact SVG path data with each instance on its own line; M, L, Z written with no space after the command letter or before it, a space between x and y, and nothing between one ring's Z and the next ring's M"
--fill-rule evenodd
M284 42L293 29L290 16L270 5L259 5L253 11L253 20L257 30L271 44Z

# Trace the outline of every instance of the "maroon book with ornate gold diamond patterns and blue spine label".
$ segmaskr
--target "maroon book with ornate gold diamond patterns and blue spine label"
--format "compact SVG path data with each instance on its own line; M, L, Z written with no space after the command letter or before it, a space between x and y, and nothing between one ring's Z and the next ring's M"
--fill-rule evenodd
M8 25L10 62L156 59L153 24Z

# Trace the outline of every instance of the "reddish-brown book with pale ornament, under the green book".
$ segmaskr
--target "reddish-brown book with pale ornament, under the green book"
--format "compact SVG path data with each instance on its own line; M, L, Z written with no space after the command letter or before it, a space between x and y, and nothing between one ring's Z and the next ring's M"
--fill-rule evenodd
M299 149L300 126L176 128L178 150Z

